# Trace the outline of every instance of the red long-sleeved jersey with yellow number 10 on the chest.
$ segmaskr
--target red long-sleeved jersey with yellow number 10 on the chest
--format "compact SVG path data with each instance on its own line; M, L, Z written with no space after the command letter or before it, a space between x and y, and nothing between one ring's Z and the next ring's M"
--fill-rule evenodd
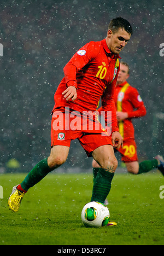
M119 55L110 52L106 39L84 45L63 69L65 77L55 92L52 112L63 107L79 112L94 112L102 97L103 110L112 112L112 132L118 131L114 102L114 89L119 73L118 59ZM75 101L66 101L62 92L71 85L77 88L78 97Z

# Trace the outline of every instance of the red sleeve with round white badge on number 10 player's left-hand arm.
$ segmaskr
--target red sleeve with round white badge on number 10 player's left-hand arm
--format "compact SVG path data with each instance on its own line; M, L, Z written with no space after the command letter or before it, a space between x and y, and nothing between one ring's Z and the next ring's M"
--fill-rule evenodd
M76 79L77 72L96 57L99 49L96 48L96 42L90 42L73 55L63 69L67 87L73 85L75 88L78 88Z

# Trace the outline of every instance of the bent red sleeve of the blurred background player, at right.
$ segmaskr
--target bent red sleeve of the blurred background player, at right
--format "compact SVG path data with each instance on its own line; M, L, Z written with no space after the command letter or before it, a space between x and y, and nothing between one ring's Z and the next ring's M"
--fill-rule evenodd
M132 112L127 111L128 118L139 118L147 114L147 110L144 106L144 102L142 101L142 98L140 97L136 88L131 88L130 99L131 99L133 108L136 110Z

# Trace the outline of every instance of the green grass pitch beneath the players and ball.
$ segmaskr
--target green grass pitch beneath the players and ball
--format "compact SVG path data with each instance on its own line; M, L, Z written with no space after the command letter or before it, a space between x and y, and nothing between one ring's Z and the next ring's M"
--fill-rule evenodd
M92 193L91 174L49 174L31 188L19 212L8 197L25 174L1 174L0 245L163 245L163 177L115 174L108 196L115 227L85 228L81 210Z

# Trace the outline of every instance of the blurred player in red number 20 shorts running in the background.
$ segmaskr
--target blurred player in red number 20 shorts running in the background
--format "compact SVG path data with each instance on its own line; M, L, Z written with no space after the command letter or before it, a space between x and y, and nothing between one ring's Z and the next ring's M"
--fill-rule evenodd
M120 62L120 71L115 89L115 106L117 109L116 115L119 124L119 132L124 139L124 146L118 149L122 155L122 161L125 162L127 171L133 174L149 172L154 168L164 174L163 158L156 156L154 160L138 162L137 146L134 139L134 127L132 124L133 118L143 117L147 110L145 109L142 98L136 88L133 88L127 83L130 68L126 62ZM101 112L102 108L98 111ZM98 164L95 160L92 162L93 173L96 176Z

